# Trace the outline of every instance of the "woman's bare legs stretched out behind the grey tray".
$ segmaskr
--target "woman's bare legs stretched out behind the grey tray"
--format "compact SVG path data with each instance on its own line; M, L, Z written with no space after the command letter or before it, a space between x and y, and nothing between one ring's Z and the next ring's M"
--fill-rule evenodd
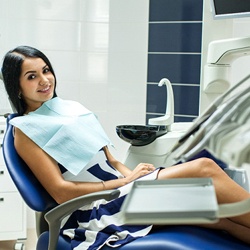
M200 158L173 167L165 168L158 174L158 179L169 178L198 178L213 179L218 203L233 203L250 198L250 194L234 182L214 161ZM235 223L250 228L250 213L230 218Z

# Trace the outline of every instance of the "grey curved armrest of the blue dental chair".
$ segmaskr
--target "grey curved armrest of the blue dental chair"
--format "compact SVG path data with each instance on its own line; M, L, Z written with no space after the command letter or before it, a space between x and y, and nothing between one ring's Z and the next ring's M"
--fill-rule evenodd
M49 212L47 212L45 214L45 219L49 225L48 250L56 249L61 221L63 218L70 215L72 212L82 207L84 204L88 204L100 199L105 199L109 201L117 198L119 194L120 194L119 190L107 190L107 191L95 192L64 202L56 206L55 208L51 209Z

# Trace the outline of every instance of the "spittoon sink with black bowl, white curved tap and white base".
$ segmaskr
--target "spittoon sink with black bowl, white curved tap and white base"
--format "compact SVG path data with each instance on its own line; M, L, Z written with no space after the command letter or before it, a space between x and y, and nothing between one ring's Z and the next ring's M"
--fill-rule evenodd
M174 123L174 94L170 81L161 79L158 86L166 85L167 102L164 116L149 119L148 125L119 125L118 136L130 143L125 159L126 166L133 168L140 162L150 162L155 166L170 166L173 156L171 148L192 125L191 122Z

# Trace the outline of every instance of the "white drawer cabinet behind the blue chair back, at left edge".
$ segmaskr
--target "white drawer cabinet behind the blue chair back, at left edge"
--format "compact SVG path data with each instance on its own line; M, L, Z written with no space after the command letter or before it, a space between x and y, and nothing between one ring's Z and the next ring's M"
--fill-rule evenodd
M26 239L26 204L24 204L4 164L2 142L6 119L0 116L0 241ZM1 243L0 243L1 244ZM17 243L19 244L19 243ZM15 247L15 249L17 249ZM24 249L24 248L18 248Z

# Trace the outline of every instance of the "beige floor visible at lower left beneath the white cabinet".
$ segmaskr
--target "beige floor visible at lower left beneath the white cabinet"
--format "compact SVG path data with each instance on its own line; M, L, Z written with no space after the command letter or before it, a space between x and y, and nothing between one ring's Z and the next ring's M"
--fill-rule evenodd
M36 249L36 231L35 229L28 229L27 240L25 243L25 250L35 250ZM13 250L16 241L0 241L0 250Z

